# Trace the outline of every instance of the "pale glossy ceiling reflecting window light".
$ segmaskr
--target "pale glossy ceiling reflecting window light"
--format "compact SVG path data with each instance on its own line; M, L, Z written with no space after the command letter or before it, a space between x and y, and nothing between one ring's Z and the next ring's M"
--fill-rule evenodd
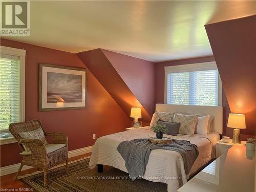
M212 55L204 25L256 13L256 1L31 1L31 35L72 53L102 48L150 61Z

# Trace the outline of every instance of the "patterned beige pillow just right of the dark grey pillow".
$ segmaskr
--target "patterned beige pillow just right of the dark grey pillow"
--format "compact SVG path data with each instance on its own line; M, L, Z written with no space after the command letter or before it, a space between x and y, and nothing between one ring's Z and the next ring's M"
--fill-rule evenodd
M198 115L176 114L174 122L180 123L179 134L193 135L195 133Z

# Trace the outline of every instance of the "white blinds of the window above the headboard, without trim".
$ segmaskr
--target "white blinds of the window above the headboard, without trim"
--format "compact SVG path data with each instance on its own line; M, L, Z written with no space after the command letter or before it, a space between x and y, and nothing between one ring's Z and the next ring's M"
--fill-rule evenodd
M167 104L218 105L218 70L167 74Z

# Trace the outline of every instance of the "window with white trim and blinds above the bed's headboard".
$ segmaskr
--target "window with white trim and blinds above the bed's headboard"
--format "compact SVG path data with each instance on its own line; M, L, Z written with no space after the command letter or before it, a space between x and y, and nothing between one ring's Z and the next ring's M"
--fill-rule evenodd
M165 67L165 103L221 105L221 80L216 63Z

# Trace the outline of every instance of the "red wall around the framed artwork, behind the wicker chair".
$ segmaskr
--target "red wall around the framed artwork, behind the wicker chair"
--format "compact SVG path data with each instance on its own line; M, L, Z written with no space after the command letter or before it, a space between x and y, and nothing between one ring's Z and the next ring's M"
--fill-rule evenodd
M47 131L64 132L69 138L69 150L93 145L96 137L124 131L129 118L89 71L88 107L85 110L38 111L38 63L86 68L76 54L48 49L22 42L1 39L1 45L26 52L25 120L40 119ZM115 123L113 123L115 122ZM111 125L110 125L111 124ZM21 161L17 143L1 145L1 167ZM8 154L8 156L6 155Z

